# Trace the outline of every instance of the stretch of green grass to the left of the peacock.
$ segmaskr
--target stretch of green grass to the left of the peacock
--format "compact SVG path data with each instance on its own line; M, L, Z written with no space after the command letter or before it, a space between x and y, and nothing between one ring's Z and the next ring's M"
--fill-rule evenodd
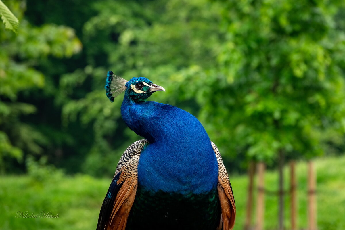
M80 175L34 182L29 176L0 178L0 229L96 229L111 179ZM16 218L17 212L59 213L59 218Z

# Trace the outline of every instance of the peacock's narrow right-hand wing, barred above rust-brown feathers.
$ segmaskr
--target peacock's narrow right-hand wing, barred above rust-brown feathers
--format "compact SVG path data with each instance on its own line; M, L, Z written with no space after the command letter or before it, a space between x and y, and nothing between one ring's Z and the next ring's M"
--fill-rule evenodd
M221 207L221 218L218 229L231 230L234 228L236 219L236 206L233 189L229 181L223 160L221 159L217 146L211 141L212 148L216 153L218 162L218 197Z

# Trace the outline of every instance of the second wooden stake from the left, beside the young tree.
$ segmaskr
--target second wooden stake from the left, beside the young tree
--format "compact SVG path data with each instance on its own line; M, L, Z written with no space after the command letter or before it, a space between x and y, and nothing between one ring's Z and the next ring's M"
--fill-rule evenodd
M265 164L258 163L258 198L256 205L256 230L263 230L265 214Z

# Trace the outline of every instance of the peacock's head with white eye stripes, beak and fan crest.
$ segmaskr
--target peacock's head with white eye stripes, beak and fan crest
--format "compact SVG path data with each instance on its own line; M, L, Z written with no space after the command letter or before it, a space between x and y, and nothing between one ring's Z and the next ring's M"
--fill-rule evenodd
M126 97L135 102L146 101L153 92L158 90L165 91L163 87L153 84L147 78L132 78L127 81L116 76L112 71L108 71L105 89L111 102L114 102L114 98L125 90Z

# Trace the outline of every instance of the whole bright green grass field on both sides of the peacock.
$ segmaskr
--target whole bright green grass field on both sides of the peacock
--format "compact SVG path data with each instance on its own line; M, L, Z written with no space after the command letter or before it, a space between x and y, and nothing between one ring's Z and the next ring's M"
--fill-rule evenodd
M318 229L345 229L345 156L319 158L314 162L317 169ZM297 175L300 229L306 229L306 174L305 162L299 162ZM287 171L285 175L288 175ZM243 229L248 180L245 175L230 175L230 180L237 207L235 229ZM99 209L110 182L110 178L98 179L86 175L71 177L51 170L38 170L29 176L2 176L0 229L95 229ZM288 178L285 182L287 188ZM269 190L277 189L275 171L266 173L265 184ZM289 229L288 198L287 196L286 229ZM265 206L265 229L273 230L277 226L277 197L266 196ZM42 211L58 214L58 218L40 218ZM37 217L24 218L31 215Z

